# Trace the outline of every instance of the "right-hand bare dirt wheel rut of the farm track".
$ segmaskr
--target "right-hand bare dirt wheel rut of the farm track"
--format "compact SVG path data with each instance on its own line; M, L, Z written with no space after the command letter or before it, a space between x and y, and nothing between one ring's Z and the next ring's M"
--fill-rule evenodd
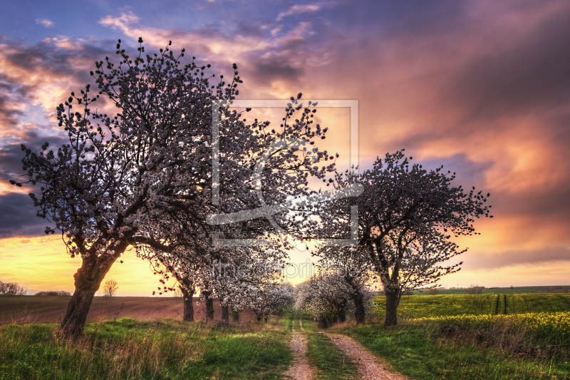
M380 360L368 352L360 343L341 334L327 334L341 350L358 366L358 374L363 380L408 380L407 377L395 374Z

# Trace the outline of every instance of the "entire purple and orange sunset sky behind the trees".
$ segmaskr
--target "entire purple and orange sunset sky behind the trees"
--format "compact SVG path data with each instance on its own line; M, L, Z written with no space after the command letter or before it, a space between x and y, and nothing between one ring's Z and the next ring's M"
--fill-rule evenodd
M443 286L570 283L568 1L11 1L0 14L0 280L73 291L78 259L43 234L20 144L61 144L55 108L90 83L118 38L136 52L172 41L211 72L244 80L241 99L358 101L361 168L405 148L456 185L490 192L492 219ZM94 83L92 83L94 85ZM350 156L350 110L321 108L323 148ZM279 120L276 120L277 122ZM291 252L305 262L307 252ZM120 295L157 287L131 253L108 278ZM300 279L296 279L299 281ZM295 280L294 280L295 281Z

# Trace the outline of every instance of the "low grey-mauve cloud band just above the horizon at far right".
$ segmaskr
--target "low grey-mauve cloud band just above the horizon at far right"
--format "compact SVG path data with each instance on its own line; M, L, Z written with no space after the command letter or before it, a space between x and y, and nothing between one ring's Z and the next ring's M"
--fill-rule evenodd
M473 253L462 257L463 269L498 269L513 265L539 265L546 262L570 262L570 249L566 247L546 247L540 250L508 250L494 255Z

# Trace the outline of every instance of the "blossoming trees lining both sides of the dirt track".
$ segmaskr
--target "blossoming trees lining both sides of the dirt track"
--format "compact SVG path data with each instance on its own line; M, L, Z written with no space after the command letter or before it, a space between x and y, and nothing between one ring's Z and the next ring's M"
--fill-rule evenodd
M130 247L162 276L159 293L173 291L165 279L175 277L185 319L193 318L197 288L207 314L217 297L224 319L229 306L253 307L264 317L267 304L279 308L274 299L287 299L282 295L289 292L278 284L292 247L286 234L346 238L351 205L358 205L358 245L323 248L318 255L359 268L356 280L343 279L356 309L361 295L355 289L368 281L364 274L382 282L386 324L395 324L402 292L458 270L438 263L464 252L450 235L475 233L474 218L488 215L481 192L452 188L453 175L412 165L401 151L378 159L361 175L336 173L338 155L316 147L327 131L314 125L316 104L303 106L301 93L291 97L279 126L257 119L247 123L248 109L230 110L242 83L235 64L230 81L219 76L212 83L209 65L186 60L184 49L175 55L169 43L160 53L145 55L142 38L139 43L138 54L129 56L119 41L118 61L105 57L91 72L97 91L87 85L58 106L68 143L56 150L46 143L39 153L22 145L26 183L39 192L30 196L38 215L53 222L46 233L61 233L68 254L82 261L62 335L81 334L95 292ZM326 201L326 194L309 188L309 177L336 190L362 186L363 194ZM301 201L309 196L323 201ZM284 203L290 207L278 207ZM268 205L277 207L272 215L250 213ZM224 247L212 244L215 236L242 241L261 236L271 244ZM239 275L223 270L259 263L274 269Z

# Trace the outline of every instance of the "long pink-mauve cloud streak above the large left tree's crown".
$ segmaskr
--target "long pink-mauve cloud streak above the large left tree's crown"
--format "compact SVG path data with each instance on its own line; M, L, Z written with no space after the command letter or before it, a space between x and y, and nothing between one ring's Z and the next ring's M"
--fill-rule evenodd
M240 76L253 81L256 91L260 88L274 91L280 83L296 83L308 68L321 66L331 57L328 47L313 41L314 27L321 28L318 24L321 21L300 22L279 32L278 27L267 24L244 26L242 23L232 34L222 33L213 26L192 31L147 27L140 25L140 18L132 12L118 17L105 16L99 22L122 31L133 41L142 37L147 51L150 51L149 46L164 48L168 41L173 41L174 46L185 48L188 54L200 62L211 63L214 69L227 70L232 63L237 63ZM243 88L240 92L243 93ZM283 98L292 94L279 91Z

